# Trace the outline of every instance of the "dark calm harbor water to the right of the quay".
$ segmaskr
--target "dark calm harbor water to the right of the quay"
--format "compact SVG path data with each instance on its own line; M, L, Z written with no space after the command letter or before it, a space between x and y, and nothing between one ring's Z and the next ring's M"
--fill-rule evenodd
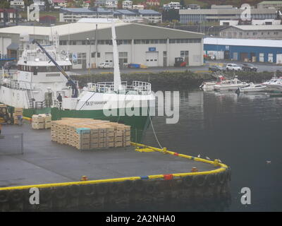
M227 211L281 211L281 107L282 97L266 93L181 90L178 123L166 124L166 117L154 117L152 122L168 150L219 158L231 167ZM158 146L152 126L143 143ZM251 191L247 205L241 203L244 187Z

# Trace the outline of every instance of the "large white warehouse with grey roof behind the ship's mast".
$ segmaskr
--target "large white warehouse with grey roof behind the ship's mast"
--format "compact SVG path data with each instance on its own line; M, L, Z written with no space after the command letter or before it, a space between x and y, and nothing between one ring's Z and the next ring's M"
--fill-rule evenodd
M106 18L83 18L78 23L53 27L1 28L1 56L18 59L23 42L36 39L49 44L56 34L59 36L59 50L68 52L73 69L96 68L104 62L112 64L111 21ZM188 66L203 64L204 35L201 33L116 19L116 36L121 67L128 64L173 66L180 57Z

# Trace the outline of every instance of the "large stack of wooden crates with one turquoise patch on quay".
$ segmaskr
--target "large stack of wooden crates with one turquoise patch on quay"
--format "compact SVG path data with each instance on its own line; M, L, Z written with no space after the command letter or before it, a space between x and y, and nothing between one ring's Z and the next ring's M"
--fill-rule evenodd
M63 118L51 122L51 140L79 150L130 145L130 126L97 119Z

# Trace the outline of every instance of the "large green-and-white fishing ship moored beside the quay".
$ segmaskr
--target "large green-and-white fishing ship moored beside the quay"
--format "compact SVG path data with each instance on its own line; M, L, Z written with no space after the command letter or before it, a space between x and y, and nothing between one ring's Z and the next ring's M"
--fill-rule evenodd
M155 97L150 83L133 81L129 84L121 81L114 21L111 32L114 82L87 83L80 89L78 81L73 81L69 76L72 65L68 54L58 51L59 37L51 46L42 46L33 40L25 44L18 61L18 71L8 78L3 72L0 102L23 108L25 117L49 113L52 120L61 117L106 119L123 122L136 133L142 133L149 124L149 118L148 114L139 113L147 112L149 103Z

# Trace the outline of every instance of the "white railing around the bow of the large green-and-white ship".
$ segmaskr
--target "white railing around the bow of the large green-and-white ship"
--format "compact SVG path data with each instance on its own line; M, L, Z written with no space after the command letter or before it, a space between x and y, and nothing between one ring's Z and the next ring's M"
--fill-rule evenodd
M97 93L113 93L114 83L87 83L87 88L90 91ZM130 93L132 95L148 95L151 93L151 83L146 83L142 81L133 81L132 85L128 85L127 82L121 82L121 89L119 93Z

